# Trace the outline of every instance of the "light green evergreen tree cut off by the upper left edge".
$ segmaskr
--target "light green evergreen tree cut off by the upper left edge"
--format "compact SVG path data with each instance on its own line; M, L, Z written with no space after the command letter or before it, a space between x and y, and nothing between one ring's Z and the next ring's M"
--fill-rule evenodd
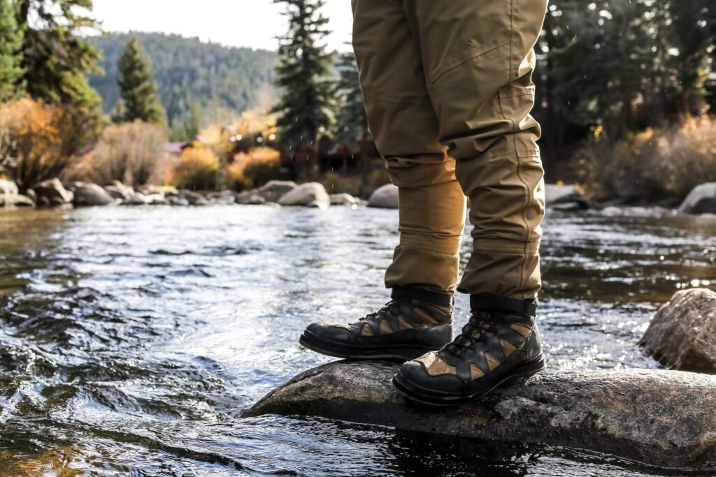
M24 92L22 77L23 33L15 18L15 6L0 0L0 102Z

